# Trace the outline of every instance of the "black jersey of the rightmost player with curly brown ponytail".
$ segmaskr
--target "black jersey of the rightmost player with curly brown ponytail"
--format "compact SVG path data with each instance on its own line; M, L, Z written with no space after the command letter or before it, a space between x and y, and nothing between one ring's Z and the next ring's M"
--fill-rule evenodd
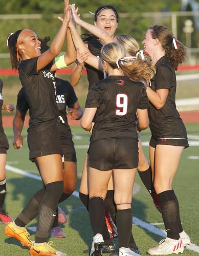
M175 105L176 76L174 68L166 56L156 63L156 75L151 80L151 89L168 89L168 96L162 109L157 110L149 102L150 130L154 139L187 138L185 125Z

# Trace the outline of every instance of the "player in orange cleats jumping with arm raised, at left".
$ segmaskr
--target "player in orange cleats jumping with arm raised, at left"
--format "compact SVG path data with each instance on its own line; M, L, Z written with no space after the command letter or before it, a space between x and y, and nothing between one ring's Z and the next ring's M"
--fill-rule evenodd
M20 215L5 227L5 233L30 248L30 255L65 255L47 243L56 217L58 201L63 193L62 149L58 127L58 108L55 99L57 70L54 58L60 53L70 22L69 1L64 1L62 25L48 51L41 54L40 41L34 31L18 30L8 37L8 47L13 69L19 70L31 118L28 129L30 160L36 160L40 175L46 185L31 198ZM67 65L74 60L64 55ZM37 139L35 139L37 138ZM29 239L25 226L38 215L35 242Z

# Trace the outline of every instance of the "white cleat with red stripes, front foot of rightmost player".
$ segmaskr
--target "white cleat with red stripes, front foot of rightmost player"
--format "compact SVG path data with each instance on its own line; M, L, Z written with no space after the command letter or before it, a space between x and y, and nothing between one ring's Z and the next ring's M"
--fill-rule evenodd
M171 238L165 238L160 241L159 245L147 250L150 255L168 255L183 253L184 244L181 238L174 240Z

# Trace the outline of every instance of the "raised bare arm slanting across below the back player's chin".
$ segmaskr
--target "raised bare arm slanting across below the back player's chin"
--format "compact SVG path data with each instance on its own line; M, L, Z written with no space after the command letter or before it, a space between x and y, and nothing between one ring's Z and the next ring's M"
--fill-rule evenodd
M100 38L105 44L108 42L112 42L113 38L103 29L98 28L90 23L84 22L83 20L80 19L78 16L75 5L72 5L72 14L73 18L76 24L81 26L82 28L86 29L87 31L90 31L92 34L96 35L98 38Z

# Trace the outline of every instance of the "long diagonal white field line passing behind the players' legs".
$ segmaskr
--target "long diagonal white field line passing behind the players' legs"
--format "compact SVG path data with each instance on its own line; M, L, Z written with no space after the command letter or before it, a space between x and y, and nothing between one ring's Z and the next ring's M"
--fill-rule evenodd
M12 167L8 164L6 164L6 169L10 170L13 173L17 173L17 174L20 174L20 175L23 175L23 176L26 176L26 177L29 177L29 178L32 178L32 179L35 179L35 180L41 180L41 178L37 175L26 173L26 172L24 172L24 170ZM77 197L77 198L79 197L79 193L77 191L74 191L74 193L72 195ZM158 234L161 237L166 237L166 232L164 230L152 225L151 223L147 223L145 221L142 221L137 217L133 217L132 221L133 221L134 224L148 230L151 233ZM190 245L187 246L187 248L189 250L192 250L192 251L195 251L195 252L199 253L199 246L197 246L195 244L191 243Z

